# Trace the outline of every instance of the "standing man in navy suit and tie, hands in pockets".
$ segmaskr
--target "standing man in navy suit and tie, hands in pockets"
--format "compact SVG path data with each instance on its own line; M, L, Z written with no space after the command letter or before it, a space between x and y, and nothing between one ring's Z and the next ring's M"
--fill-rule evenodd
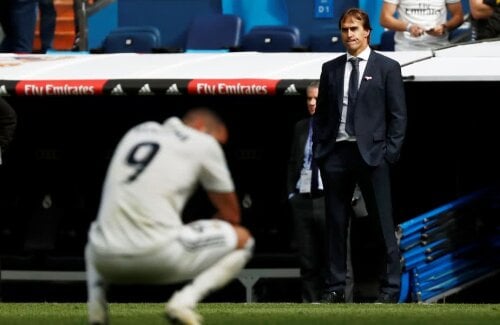
M372 28L366 12L348 9L340 17L339 29L347 53L323 64L313 117L314 158L323 179L329 256L322 300L345 301L349 209L358 183L368 215L379 221L377 231L385 248L377 302L395 303L401 265L392 215L390 165L398 160L406 133L401 66L370 49ZM349 79L356 67L349 61L353 57L360 59L358 78L353 78L359 86L354 84L350 92Z

